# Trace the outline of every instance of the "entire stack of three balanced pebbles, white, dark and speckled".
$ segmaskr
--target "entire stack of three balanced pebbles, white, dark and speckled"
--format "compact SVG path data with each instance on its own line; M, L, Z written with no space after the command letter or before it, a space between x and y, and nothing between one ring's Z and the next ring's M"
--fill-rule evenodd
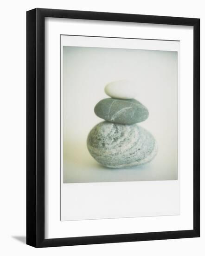
M104 119L90 131L87 147L90 155L110 168L127 168L150 162L157 153L151 133L136 123L145 121L149 112L135 100L135 86L128 81L106 85L111 98L99 101L95 114Z

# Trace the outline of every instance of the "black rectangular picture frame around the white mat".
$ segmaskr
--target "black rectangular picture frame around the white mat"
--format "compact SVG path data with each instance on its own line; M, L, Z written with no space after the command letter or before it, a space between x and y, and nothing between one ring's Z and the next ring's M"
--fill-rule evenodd
M193 229L45 239L45 17L193 27ZM33 247L200 236L200 19L33 9L26 13L26 243Z

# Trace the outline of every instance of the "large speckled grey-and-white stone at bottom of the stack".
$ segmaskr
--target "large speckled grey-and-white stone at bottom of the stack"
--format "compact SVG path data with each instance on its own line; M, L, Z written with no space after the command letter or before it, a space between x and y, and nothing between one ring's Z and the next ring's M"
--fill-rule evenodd
M87 147L93 158L110 168L127 168L150 162L156 141L146 129L103 121L89 133Z

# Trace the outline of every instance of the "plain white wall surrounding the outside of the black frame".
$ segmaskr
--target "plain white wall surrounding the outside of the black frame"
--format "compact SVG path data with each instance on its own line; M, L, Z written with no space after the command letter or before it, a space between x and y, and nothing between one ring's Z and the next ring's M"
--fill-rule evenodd
M119 13L138 13L201 18L201 70L205 69L205 11L203 1L10 1L1 6L1 186L0 186L0 252L3 255L204 255L205 243L205 162L201 160L201 238L86 245L50 249L34 249L25 245L26 235L26 10L35 7L78 9ZM201 99L204 99L201 74ZM202 101L201 109L205 108ZM201 111L201 130L205 115ZM202 134L201 156L205 154ZM22 243L22 241L24 243Z

